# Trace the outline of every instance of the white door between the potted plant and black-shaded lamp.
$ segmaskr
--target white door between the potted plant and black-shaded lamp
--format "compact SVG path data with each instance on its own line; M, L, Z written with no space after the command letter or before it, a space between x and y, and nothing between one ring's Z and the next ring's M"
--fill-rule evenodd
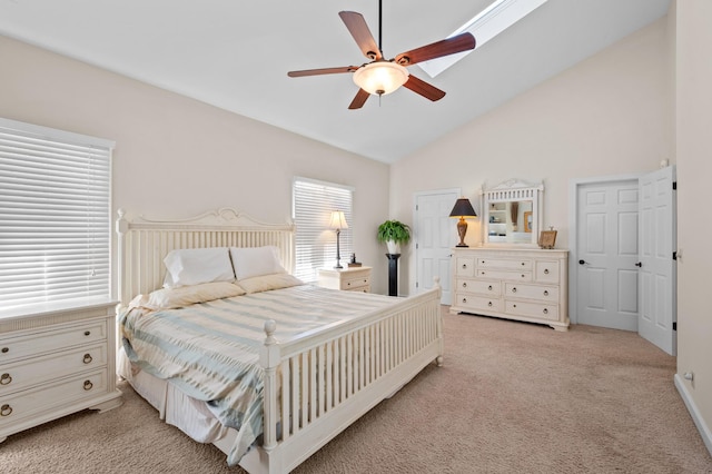
M452 303L451 254L458 239L456 221L449 217L449 211L458 197L458 189L415 195L415 292L432 288L433 278L437 276L443 287L443 305Z

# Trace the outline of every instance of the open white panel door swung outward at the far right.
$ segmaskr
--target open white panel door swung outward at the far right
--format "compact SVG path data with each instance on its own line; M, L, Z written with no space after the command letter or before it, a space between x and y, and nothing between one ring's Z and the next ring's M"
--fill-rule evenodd
M676 354L675 168L641 177L639 334L670 355Z

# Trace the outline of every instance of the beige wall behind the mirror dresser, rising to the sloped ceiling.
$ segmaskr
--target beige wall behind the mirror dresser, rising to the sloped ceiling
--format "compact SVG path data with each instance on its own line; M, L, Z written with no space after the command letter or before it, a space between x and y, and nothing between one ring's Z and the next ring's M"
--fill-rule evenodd
M478 206L483 185L544 181L544 228L554 226L556 247L568 248L572 179L674 162L668 30L661 19L392 166L392 214L412 223L417 191L461 187ZM481 241L479 227L471 221L467 244ZM404 294L414 292L412 247L402 258L412 284Z

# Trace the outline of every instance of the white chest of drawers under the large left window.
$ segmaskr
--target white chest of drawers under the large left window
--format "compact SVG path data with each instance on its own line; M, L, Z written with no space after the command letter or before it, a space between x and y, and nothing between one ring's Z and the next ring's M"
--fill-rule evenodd
M116 303L0 317L0 442L85 408L121 405Z

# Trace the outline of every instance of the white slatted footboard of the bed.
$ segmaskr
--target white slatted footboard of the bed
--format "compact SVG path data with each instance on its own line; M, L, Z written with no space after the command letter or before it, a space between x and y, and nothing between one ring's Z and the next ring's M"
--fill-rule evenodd
M240 465L250 473L289 472L425 366L442 365L439 299L436 280L388 312L284 345L267 322L264 443Z

